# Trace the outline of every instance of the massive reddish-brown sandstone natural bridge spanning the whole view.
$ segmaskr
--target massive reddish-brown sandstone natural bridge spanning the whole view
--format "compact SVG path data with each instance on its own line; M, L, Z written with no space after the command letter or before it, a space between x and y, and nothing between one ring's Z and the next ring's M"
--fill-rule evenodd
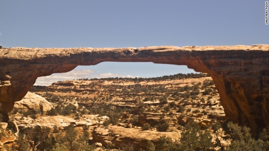
M208 73L220 94L227 120L249 126L253 134L269 126L269 45L2 48L1 114L8 120L14 102L26 95L37 77L105 61L187 65Z

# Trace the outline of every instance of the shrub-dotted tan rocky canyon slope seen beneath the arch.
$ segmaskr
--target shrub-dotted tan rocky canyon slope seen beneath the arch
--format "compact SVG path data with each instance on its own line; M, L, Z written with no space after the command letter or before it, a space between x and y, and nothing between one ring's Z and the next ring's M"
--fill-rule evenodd
M88 132L95 150L146 149L148 141L156 144L161 136L177 140L190 121L213 134L212 125L223 123L224 116L207 74L78 79L33 86L9 115L21 129L49 128L52 136L72 124L79 135Z

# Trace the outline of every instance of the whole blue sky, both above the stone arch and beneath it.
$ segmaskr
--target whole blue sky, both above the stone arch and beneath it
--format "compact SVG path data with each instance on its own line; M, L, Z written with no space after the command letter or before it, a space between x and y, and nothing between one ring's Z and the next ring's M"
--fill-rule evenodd
M2 0L0 5L3 47L269 44L262 0ZM37 84L191 72L186 66L104 62L42 77Z

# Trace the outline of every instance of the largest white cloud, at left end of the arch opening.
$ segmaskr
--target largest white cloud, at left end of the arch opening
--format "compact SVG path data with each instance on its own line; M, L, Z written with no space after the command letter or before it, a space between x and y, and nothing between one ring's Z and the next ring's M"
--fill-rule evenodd
M90 78L93 70L72 70L66 73L55 73L45 77L38 77L34 85L51 85L56 81Z

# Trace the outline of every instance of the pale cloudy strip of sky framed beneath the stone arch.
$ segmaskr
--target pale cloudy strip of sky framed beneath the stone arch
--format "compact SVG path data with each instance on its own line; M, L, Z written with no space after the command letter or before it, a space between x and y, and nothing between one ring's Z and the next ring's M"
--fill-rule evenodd
M178 73L197 72L184 65L155 64L152 62L101 62L94 66L77 66L66 73L38 77L34 85L51 85L57 81L82 78L155 78Z

